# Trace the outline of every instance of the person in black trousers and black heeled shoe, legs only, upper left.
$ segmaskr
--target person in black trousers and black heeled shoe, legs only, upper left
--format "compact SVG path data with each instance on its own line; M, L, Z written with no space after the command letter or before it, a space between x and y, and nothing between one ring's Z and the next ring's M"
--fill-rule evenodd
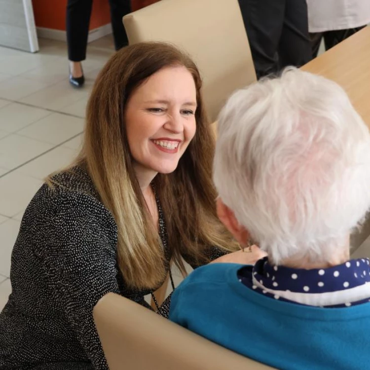
M131 12L130 0L109 0L115 49L128 45L122 17ZM70 83L81 87L85 82L81 61L86 59L87 37L92 0L68 0L67 44L70 61Z

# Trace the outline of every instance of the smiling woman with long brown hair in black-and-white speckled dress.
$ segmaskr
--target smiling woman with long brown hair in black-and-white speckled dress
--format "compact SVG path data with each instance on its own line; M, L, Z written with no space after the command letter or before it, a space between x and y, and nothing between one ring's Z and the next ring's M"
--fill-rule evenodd
M238 248L217 218L214 147L187 55L141 43L112 56L81 152L25 212L0 314L1 370L108 369L92 317L102 296L150 308L144 296L171 276L171 262L185 271L183 259L197 267Z

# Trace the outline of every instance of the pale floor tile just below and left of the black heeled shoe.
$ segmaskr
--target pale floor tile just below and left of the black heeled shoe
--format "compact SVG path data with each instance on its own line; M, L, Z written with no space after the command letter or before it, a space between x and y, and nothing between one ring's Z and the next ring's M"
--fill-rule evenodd
M21 102L35 107L59 111L63 107L85 98L88 92L85 88L74 89L68 80L64 80L21 99Z

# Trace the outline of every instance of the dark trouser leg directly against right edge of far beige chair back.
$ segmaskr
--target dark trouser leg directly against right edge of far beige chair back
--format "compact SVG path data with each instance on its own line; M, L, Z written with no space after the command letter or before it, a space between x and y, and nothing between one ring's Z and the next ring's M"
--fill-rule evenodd
M257 78L278 71L286 0L239 0Z

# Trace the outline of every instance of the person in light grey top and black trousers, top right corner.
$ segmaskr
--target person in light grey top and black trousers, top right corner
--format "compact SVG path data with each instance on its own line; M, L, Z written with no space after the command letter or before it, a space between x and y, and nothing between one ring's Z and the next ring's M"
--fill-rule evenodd
M307 0L313 57L322 39L329 50L370 23L369 0Z

